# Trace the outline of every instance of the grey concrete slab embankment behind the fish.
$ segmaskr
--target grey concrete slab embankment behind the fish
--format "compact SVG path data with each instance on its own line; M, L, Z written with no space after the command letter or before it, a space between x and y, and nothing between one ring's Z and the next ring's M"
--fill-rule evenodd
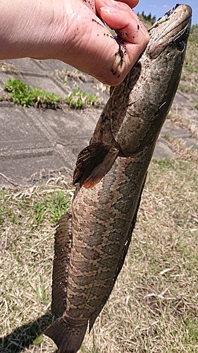
M73 88L109 98L109 91L94 78L75 71L61 61L16 59L0 62L0 96L5 95L6 78L20 78L32 87L65 97ZM178 92L173 109L198 126L198 109L194 97L189 99ZM20 107L10 102L0 102L0 185L10 186L8 179L18 184L39 183L61 170L68 181L72 180L78 153L89 144L101 109L63 109L45 111ZM198 149L197 137L188 128L166 120L156 143L154 158L172 158L173 150L166 134L182 138L187 145Z

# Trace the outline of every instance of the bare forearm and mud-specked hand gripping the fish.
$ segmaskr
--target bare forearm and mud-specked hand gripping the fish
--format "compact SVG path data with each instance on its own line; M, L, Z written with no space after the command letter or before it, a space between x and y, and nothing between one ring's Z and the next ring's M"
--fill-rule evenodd
M121 1L1 0L0 59L59 59L118 85L149 42L131 10L138 0Z

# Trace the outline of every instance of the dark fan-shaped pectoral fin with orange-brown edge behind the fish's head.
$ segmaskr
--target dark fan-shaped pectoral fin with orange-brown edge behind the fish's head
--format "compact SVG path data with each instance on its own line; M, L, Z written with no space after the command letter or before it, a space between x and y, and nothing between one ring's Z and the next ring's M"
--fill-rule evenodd
M92 143L78 155L73 184L80 183L89 189L95 186L111 168L118 155L118 149L104 143Z

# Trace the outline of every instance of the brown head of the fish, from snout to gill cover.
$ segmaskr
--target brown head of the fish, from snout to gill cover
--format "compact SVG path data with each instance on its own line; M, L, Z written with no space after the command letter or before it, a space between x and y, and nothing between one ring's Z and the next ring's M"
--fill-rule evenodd
M176 5L157 20L147 48L113 91L111 131L124 156L154 148L180 82L191 18L190 6Z

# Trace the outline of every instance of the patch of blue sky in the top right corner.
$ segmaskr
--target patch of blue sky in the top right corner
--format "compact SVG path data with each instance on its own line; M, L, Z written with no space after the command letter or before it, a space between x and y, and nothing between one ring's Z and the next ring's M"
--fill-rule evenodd
M144 11L145 15L151 13L151 16L156 16L157 20L176 4L178 4L176 0L140 0L139 4L134 8L134 11L136 13L142 13L142 11ZM180 4L187 4L192 7L192 24L198 24L198 0L182 1Z

